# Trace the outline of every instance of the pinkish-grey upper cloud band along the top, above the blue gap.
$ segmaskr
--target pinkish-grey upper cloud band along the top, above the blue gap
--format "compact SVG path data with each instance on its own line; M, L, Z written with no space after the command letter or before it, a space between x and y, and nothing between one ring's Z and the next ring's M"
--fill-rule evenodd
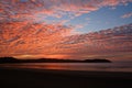
M116 7L132 0L0 0L1 21L44 20L47 16L78 16L101 7Z

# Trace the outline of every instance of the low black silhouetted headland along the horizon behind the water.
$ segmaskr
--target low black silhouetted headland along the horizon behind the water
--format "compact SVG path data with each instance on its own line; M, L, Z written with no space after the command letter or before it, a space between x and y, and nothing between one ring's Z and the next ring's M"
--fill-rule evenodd
M78 61L57 58L16 59L14 57L0 57L0 64L2 63L111 63L111 61L102 58Z

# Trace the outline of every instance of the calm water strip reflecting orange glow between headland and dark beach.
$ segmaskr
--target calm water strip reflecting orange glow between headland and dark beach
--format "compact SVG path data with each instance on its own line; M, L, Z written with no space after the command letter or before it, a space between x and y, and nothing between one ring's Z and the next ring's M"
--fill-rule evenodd
M0 67L67 69L67 70L101 70L101 72L132 72L132 63L23 63L4 64Z

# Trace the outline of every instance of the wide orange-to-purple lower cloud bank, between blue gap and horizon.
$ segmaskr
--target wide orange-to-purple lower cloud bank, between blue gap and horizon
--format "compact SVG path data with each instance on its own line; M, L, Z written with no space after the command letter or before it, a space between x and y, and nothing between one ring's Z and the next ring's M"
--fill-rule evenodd
M132 24L72 35L73 28L61 24L0 23L0 56L44 56L87 58L132 52Z

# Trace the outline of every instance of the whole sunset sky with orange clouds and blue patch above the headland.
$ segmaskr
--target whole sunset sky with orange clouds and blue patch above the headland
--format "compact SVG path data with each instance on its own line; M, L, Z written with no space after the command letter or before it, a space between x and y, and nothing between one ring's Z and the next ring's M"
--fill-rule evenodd
M132 61L132 0L0 0L0 57Z

